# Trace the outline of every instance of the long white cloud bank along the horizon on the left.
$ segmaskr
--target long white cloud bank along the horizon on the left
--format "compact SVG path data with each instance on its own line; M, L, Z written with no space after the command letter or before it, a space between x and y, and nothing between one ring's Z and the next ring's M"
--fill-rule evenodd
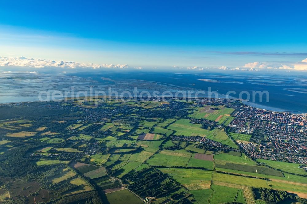
M79 63L79 62L64 62L54 61L49 59L33 59L26 57L0 57L0 66L27 66L34 68L44 67L62 67L62 68L127 68L126 64L93 64L93 63Z

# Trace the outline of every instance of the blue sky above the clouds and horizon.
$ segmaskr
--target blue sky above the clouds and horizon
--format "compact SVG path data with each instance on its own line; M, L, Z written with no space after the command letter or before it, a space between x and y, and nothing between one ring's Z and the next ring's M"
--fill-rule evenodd
M295 69L307 58L306 8L303 0L2 1L0 56Z

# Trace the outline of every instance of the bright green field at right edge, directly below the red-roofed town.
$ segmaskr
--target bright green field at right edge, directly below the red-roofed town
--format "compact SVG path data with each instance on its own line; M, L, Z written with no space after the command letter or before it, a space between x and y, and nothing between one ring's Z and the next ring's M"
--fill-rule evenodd
M283 161L272 161L272 160L266 160L266 159L257 159L257 161L260 163L269 165L270 167L280 169L285 172L307 175L307 172L305 172L302 168L298 168L302 164L295 164L295 163L289 163L289 162L283 162Z

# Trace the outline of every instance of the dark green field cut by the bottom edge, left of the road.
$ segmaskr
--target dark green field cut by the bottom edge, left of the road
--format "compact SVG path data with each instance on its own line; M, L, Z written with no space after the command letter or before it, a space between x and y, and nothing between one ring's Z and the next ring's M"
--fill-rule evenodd
M121 191L115 191L112 193L106 194L105 203L110 204L142 204L144 203L140 198L136 195L128 191L127 189Z

